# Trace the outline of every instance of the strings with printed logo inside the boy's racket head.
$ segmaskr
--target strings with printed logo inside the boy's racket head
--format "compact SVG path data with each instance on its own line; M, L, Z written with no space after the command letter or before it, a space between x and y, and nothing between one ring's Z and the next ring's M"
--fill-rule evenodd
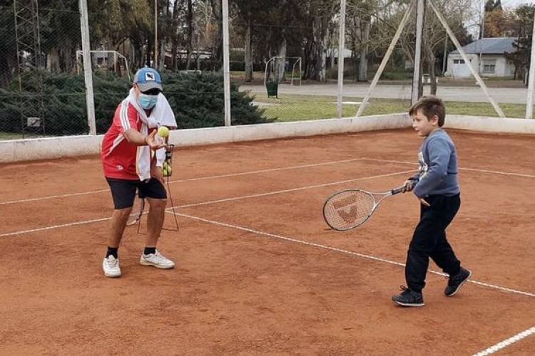
M325 204L325 219L335 229L351 229L364 223L375 206L371 194L362 191L342 192Z

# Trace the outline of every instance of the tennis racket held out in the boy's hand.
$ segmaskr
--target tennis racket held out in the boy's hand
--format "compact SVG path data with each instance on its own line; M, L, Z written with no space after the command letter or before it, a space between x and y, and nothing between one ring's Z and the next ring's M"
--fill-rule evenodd
M323 219L337 231L354 229L364 224L387 197L403 192L397 187L389 192L374 193L362 189L347 189L332 194L323 204Z

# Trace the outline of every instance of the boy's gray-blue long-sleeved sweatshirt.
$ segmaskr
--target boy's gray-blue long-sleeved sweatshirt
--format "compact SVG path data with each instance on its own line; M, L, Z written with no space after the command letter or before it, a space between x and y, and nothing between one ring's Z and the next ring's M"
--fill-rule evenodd
M429 195L452 196L460 192L457 179L457 150L446 131L432 132L422 142L418 154L418 174L414 194L423 198Z

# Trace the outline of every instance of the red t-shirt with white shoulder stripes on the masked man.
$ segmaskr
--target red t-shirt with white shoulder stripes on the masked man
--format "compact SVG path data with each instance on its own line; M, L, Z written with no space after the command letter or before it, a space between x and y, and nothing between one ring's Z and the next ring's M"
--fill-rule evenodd
M123 100L118 105L113 122L102 140L101 159L104 176L139 180L136 173L138 147L128 142L123 133L130 127L139 131L142 124L138 111L128 103L128 100Z

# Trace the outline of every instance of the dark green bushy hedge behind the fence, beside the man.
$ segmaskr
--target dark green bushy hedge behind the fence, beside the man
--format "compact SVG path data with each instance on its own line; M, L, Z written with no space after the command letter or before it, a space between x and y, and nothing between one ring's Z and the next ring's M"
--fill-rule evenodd
M43 73L43 95L37 95L35 78L26 78L26 91L17 83L0 88L0 131L21 132L21 117L43 117L46 135L79 135L88 132L86 94L82 75ZM214 73L162 73L165 96L179 128L224 125L223 76ZM117 105L128 95L131 82L114 74L93 75L98 133L108 130ZM253 98L231 85L233 125L270 122L264 110L251 105ZM23 116L21 116L21 103Z

